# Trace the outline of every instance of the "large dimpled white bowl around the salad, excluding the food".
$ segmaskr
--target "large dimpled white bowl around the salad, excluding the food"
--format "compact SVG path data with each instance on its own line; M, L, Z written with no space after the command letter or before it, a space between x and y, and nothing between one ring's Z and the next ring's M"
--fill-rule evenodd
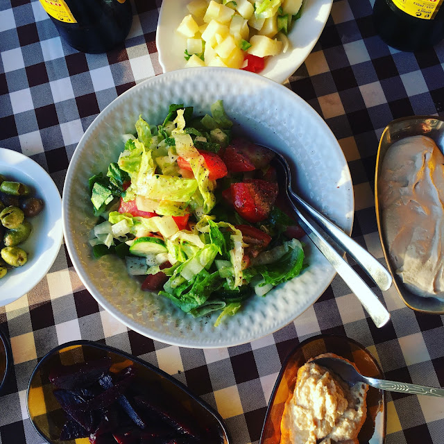
M278 330L313 304L334 277L330 264L307 240L309 267L300 277L265 298L250 298L244 309L215 328L217 314L193 318L166 298L140 290L121 259L92 257L88 239L96 218L87 180L117 160L121 134L135 132L139 114L157 124L170 103L193 105L201 114L218 99L223 99L235 129L289 158L302 196L345 231L352 228L352 182L341 148L323 119L286 87L246 71L203 67L150 78L119 96L89 126L69 164L63 191L67 248L80 279L113 316L145 336L185 347L235 345Z

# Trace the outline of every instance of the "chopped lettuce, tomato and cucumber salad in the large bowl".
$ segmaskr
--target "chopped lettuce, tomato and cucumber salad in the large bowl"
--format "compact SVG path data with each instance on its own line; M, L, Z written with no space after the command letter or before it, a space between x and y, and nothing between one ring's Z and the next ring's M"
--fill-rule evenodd
M304 233L280 210L274 153L233 137L222 101L198 117L170 105L158 126L141 116L123 144L89 179L95 257L121 257L192 316L219 311L215 325L300 273Z

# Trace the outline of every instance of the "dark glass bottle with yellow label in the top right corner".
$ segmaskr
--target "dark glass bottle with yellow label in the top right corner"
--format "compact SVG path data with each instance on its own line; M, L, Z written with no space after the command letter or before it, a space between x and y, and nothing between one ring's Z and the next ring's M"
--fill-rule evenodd
M417 51L433 46L444 38L442 0L404 1L410 13L404 12L396 3L400 1L375 0L373 6L375 29L386 44L401 51ZM418 3L424 3L426 8L420 8ZM429 13L427 6L434 10Z

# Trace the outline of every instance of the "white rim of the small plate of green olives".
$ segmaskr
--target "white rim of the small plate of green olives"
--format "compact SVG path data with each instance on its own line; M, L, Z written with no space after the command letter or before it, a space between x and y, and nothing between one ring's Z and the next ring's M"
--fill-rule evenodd
M31 291L48 273L49 268L53 265L56 257L60 251L60 246L62 245L63 239L63 230L62 230L62 198L60 197L60 193L58 192L58 188L56 184L52 180L51 176L39 165L37 162L32 160L30 157L19 153L17 151L10 150L8 148L0 148L0 158L6 159L8 158L12 161L19 160L22 165L25 165L25 168L22 169L22 172L26 174L26 176L30 176L33 180L39 181L44 180L44 194L49 194L51 198L45 199L45 205L47 207L51 207L51 212L55 212L56 214L60 214L56 223L53 226L54 234L53 234L53 245L44 251L45 261L42 262L42 267L40 268L41 273L34 273L33 275L26 275L26 280L23 282L23 289L19 291L19 294L15 299L10 300L8 304L14 302L15 300L24 296L28 291ZM43 187L42 187L43 189ZM43 194L43 193L42 193ZM26 271L25 271L26 273ZM1 290L1 281L0 281L0 290ZM0 306L3 306L0 300Z

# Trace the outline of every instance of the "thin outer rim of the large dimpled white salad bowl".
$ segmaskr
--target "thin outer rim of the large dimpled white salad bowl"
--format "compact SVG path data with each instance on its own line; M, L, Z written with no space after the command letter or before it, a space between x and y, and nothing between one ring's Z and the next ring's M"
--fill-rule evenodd
M174 77L178 76L180 71L187 71L188 74L191 74L192 71L194 71L194 70L200 71L200 70L204 70L204 69L214 71L215 76L217 75L218 71L219 71L219 73L220 73L220 71L223 71L223 72L233 71L234 73L239 73L238 69L219 68L219 67L198 67L198 68L186 68L186 69L181 69L181 70L176 70L176 71L169 71L168 73L164 73L164 74L160 74L159 76L154 76L154 77L148 78L148 79L144 80L143 82L135 85L134 87L131 87L126 92L123 92L123 94L118 96L117 99L114 99L114 101L112 101L112 103L110 103L104 110L102 110L101 114L99 114L99 116L97 116L96 119L94 119L94 121L91 123L91 125L89 125L89 127L85 131L83 137L78 142L78 146L82 145L84 140L89 137L89 133L92 133L96 121L99 121L99 119L102 119L101 116L107 114L107 111L110 110L111 107L114 107L116 105L116 103L119 103L119 101L123 101L123 99L126 98L127 95L134 94L134 92L137 89L142 89L142 88L146 87L146 85L148 83L153 83L153 82L158 81L157 79L159 79L159 78L163 78L163 79L168 78L168 77L174 78ZM257 74L253 74L248 71L240 71L240 72L243 73L243 74L241 74L242 76L246 76L246 80L248 80L248 77L250 77L251 80L257 79ZM210 74L210 73L208 73L208 74ZM307 102L305 102L303 99L301 99L300 96L298 96L298 94L292 92L291 89L288 89L287 87L284 87L283 85L279 85L278 83L275 83L273 80L270 80L268 78L262 77L261 81L268 83L268 85L271 87L282 88L282 90L287 92L287 94L291 95L293 97L293 100L298 102L298 106L300 108L305 110L305 112L307 114L311 114L313 119L320 121L320 123L325 126L325 133L330 136L330 139L334 140L334 142L336 144L338 144L336 137L334 136L332 130L330 130L330 127L327 126L327 123L325 123L325 121L321 118L321 116L319 116L319 114L313 108L311 108L311 106ZM350 179L350 184L352 184L350 171L348 169L348 162L345 159L345 155L343 154L343 151L341 150L339 144L338 144L338 147L339 147L338 155L339 155L339 157L343 158L343 163L344 163L344 166L346 167L346 174L347 174L348 178ZM74 171L74 169L76 168L76 164L78 163L77 153L78 153L78 151L76 148L76 151L74 152L74 155L71 158L71 162L69 162L69 167L67 170L66 178L69 178L72 174L72 171ZM187 340L184 338L177 338L177 337L173 338L173 337L168 336L166 334L158 334L157 332L153 332L153 330L149 330L147 327L141 326L139 323L135 322L132 318L123 315L119 309L114 307L110 302L108 302L108 300L103 298L101 296L101 292L98 289L96 289L96 287L94 286L94 284L92 284L92 282L89 280L89 278L87 276L83 275L83 266L80 264L80 260L77 255L76 248L74 248L73 241L71 240L71 238L69 236L69 233L71 232L71 225L70 225L69 216L68 216L68 203L67 203L67 199L65 199L65 194L67 193L66 189L68 187L68 183L69 183L69 180L65 180L65 185L64 185L64 189L63 189L63 195L62 195L63 196L63 199L62 199L63 230L65 233L65 245L67 246L68 253L71 257L71 262L73 263L74 268L76 269L76 272L78 273L80 280L85 285L87 291L89 291L89 293L92 294L94 299L96 299L96 301L105 310L107 310L110 314L112 314L112 316L117 318L121 323L126 325L131 330L134 330L135 332L142 334L142 336L147 336L147 337L154 339L156 341L168 343L170 345L177 345L177 346L185 347L185 348L202 348L202 349L232 347L232 346L244 344L246 342L255 341L256 339L260 339L264 336L267 336L268 334L271 334L273 332L280 330L282 327L284 327L285 325L288 325L295 318L297 318L302 313L304 313L307 309L309 309L309 307L311 307L311 305L313 305L314 302L316 302L316 300L318 300L318 298L320 298L323 295L323 293L325 292L327 287L331 284L334 276L336 275L336 271L334 270L334 268L332 266L330 266L330 272L328 274L325 273L327 280L326 280L325 286L323 287L323 290L321 291L321 293L319 293L319 295L316 297L315 300L307 301L307 303L302 307L300 314L298 314L296 317L293 316L293 314L291 314L290 316L287 316L287 318L285 318L285 320L282 321L281 323L279 323L278 325L271 326L267 331L263 332L263 334L256 336L253 339L248 339L247 341L244 339L240 339L239 341L231 341L231 342L227 341L226 343L219 342L217 344L211 344L211 343L210 344L209 343L202 344L202 343L198 343L192 339ZM350 222L350 227L349 228L342 227L345 230L345 232L347 232L348 234L351 234L351 232L352 232L352 226L353 226L354 216L355 216L355 199L353 196L353 189L352 188L351 188L351 193L352 193L351 208L350 208L351 216L350 216L350 219L348 219L348 221ZM308 237L305 237L305 240L307 242L311 242ZM149 330L149 332L147 332L146 330Z

